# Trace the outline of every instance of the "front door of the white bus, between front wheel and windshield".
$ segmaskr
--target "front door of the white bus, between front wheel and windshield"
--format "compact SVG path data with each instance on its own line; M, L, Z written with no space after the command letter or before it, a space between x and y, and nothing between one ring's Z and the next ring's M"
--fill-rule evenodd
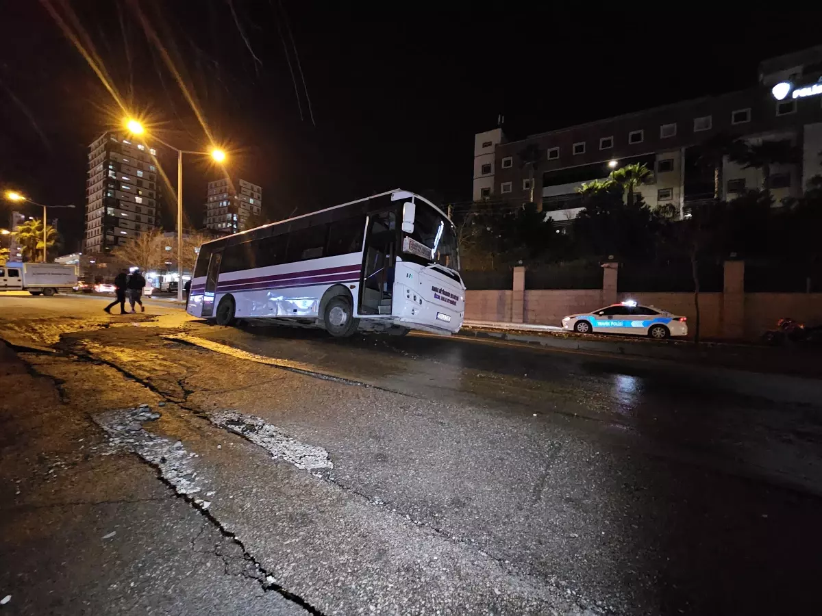
M360 285L360 314L390 315L394 292L397 217L394 212L372 214L368 222Z

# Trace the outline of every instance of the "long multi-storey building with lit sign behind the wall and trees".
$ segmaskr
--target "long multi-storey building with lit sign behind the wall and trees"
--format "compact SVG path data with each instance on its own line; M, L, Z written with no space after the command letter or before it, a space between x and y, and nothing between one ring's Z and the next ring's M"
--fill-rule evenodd
M813 86L819 82L819 87ZM779 85L778 84L787 84ZM785 88L788 92L783 98ZM819 90L819 92L815 92ZM506 140L500 128L474 138L473 200L534 200L555 223L568 223L582 209L576 189L604 179L613 169L644 163L651 176L640 186L652 208L673 205L680 213L690 201L712 199L713 169L699 160L696 146L728 136L755 144L787 140L801 152L797 163L769 166L769 189L777 204L801 195L806 182L822 173L822 46L760 64L759 83L748 90L692 99L663 107ZM520 153L535 144L536 172ZM720 197L763 186L763 171L723 160Z

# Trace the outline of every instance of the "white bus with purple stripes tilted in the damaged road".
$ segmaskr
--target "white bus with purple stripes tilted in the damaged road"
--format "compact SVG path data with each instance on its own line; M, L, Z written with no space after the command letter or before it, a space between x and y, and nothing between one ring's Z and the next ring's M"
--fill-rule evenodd
M455 333L463 322L453 223L395 190L206 242L188 314L402 335Z

